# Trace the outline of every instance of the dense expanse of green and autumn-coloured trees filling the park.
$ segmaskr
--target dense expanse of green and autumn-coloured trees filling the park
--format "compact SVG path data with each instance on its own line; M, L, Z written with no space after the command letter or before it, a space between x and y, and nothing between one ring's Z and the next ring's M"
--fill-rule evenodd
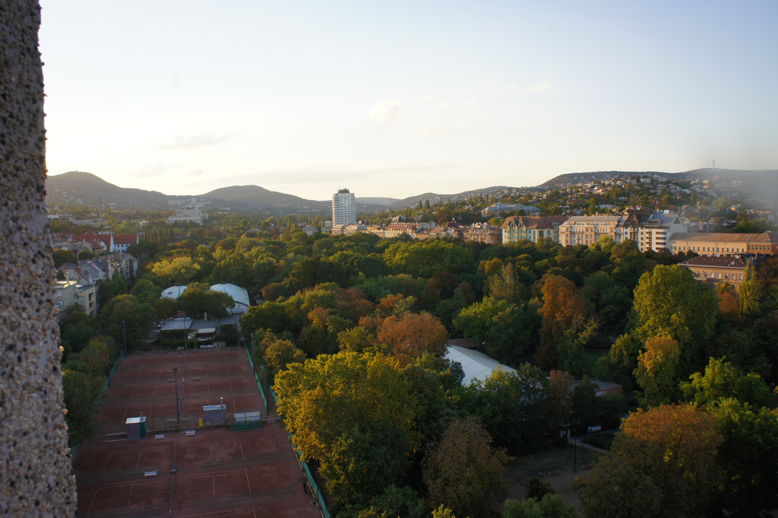
M103 282L98 319L73 310L62 325L66 393L94 392L125 332L139 348L178 310L223 312L231 301L208 286L230 282L260 298L240 324L335 516L490 516L511 456L553 447L570 423L618 428L627 411L611 455L576 482L587 516L756 516L778 503L778 260L750 265L735 293L677 266L689 256L632 241L267 232L149 233L131 247L135 282ZM188 289L160 299L171 285ZM448 338L515 371L463 387ZM595 396L590 378L625 396ZM82 400L72 443L89 437ZM528 486L503 516L574 516L546 492Z

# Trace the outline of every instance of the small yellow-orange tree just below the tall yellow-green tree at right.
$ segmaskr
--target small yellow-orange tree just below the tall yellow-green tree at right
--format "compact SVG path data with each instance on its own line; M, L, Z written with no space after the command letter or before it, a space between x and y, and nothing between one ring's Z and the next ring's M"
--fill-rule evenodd
M658 407L678 401L678 360L681 349L672 338L650 338L640 352L635 378L643 389L643 405Z

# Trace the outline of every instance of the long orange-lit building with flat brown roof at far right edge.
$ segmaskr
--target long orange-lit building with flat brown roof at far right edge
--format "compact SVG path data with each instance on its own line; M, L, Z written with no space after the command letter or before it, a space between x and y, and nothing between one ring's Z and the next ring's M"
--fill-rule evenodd
M778 233L674 233L668 239L674 254L692 251L698 254L778 254Z

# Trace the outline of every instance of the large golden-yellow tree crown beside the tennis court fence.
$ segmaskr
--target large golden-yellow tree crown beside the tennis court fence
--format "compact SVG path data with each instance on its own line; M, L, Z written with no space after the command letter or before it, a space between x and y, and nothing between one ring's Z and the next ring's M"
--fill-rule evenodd
M279 414L303 457L324 459L343 432L361 422L391 422L408 435L419 415L411 386L397 360L339 352L293 363L275 378Z

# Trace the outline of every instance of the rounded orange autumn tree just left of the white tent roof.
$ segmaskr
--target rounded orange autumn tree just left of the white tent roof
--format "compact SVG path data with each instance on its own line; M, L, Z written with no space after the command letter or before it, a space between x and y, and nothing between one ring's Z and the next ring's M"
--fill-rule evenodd
M381 344L390 346L394 357L405 364L423 352L443 355L448 331L440 320L429 313L408 313L400 318L395 315L387 317L376 338Z

